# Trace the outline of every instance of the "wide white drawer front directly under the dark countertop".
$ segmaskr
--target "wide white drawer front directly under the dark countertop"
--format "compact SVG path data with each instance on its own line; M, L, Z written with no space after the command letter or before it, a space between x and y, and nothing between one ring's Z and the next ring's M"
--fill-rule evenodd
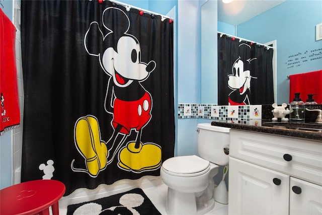
M230 157L322 185L322 142L236 129L229 133Z

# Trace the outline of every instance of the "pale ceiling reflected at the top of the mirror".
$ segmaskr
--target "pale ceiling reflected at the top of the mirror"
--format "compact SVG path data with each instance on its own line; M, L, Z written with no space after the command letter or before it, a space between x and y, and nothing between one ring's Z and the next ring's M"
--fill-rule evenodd
M285 2L280 0L234 0L224 4L218 1L218 21L239 25Z

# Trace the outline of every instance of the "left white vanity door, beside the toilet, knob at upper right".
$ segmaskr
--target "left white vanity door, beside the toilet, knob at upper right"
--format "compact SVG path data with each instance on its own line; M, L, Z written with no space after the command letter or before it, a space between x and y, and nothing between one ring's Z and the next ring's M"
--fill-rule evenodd
M288 214L288 175L235 158L228 171L228 214Z

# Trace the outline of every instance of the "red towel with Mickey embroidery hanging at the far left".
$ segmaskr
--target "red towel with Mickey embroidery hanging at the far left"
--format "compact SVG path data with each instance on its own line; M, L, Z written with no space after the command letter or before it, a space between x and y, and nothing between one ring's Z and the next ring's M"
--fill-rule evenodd
M15 43L16 27L0 9L0 135L20 125Z

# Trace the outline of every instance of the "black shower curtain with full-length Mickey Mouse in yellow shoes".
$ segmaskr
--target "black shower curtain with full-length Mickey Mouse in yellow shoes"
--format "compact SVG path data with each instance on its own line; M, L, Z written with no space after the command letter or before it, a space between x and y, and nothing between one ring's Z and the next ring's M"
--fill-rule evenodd
M65 195L174 156L173 23L104 1L22 1L22 181Z

